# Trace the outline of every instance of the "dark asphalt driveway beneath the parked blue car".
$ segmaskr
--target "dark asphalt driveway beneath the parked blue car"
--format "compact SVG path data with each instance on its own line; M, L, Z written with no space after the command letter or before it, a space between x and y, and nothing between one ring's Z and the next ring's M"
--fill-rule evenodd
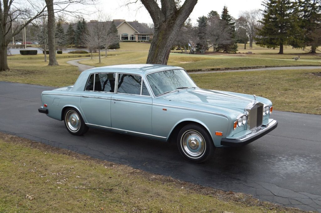
M217 149L203 164L182 159L176 144L90 129L73 136L38 113L50 87L0 82L0 131L128 164L195 184L253 194L288 207L321 212L321 116L275 111L279 126L237 149ZM145 166L144 166L145 164Z

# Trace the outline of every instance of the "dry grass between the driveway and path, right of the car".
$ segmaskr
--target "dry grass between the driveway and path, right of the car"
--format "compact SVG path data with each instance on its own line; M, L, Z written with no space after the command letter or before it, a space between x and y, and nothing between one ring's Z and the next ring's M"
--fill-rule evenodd
M202 88L256 94L270 99L274 110L318 115L321 115L320 76L321 70L191 74Z

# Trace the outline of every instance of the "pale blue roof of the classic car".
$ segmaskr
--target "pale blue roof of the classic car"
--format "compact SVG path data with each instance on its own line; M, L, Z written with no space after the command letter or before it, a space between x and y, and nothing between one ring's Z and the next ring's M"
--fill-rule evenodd
M131 74L148 74L151 72L157 72L162 70L182 70L181 67L160 65L160 64L123 64L123 65L113 65L105 67L96 67L84 72L97 73L97 72L121 72L121 73L131 73Z

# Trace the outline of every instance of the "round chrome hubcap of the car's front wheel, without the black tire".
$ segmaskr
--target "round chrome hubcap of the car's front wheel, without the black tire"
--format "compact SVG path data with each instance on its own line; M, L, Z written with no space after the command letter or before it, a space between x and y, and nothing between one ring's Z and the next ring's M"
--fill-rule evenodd
M204 137L197 131L189 130L181 138L181 147L191 158L199 158L204 154L206 144Z

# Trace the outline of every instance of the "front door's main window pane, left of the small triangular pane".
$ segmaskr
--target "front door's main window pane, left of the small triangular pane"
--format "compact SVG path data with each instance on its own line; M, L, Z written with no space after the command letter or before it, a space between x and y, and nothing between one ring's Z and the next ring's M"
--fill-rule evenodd
M142 77L139 75L119 74L117 93L141 94Z

